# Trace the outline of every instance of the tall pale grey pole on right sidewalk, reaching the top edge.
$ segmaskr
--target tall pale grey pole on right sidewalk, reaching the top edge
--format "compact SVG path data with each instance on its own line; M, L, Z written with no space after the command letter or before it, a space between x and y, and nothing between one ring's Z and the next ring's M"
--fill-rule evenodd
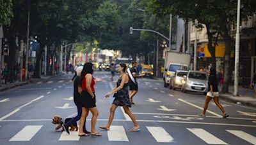
M235 53L235 82L234 82L234 95L238 95L238 79L239 79L239 45L240 45L240 0L237 0L237 22L236 22L236 53Z

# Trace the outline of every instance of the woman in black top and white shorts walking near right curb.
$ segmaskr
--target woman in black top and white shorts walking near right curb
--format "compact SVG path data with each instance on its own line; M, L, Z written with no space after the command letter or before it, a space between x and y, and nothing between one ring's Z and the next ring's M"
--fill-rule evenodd
M200 116L205 116L205 112L208 108L208 104L211 101L211 99L213 98L216 106L218 106L222 112L222 116L223 118L227 118L228 114L225 112L224 108L221 106L220 102L219 102L219 90L218 90L218 83L217 83L217 76L216 76L216 70L214 68L211 68L210 70L210 76L208 79L208 93L205 97L205 104L204 104L204 111L199 114Z

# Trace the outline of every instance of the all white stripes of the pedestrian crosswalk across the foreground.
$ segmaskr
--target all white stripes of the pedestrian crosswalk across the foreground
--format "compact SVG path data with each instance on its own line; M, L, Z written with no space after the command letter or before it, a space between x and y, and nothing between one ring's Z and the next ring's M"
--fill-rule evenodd
M36 134L40 134L40 130L43 125L27 125L22 128L17 134L10 138L8 141L31 141ZM147 128L147 129L146 129ZM256 144L256 137L244 132L243 130L225 130L227 134L230 134L230 137L227 137L227 134L223 135L223 139L220 139L220 134L218 137L213 135L209 130L204 128L184 128L186 134L190 132L196 139L204 141L205 144L228 144L228 141L225 141L227 138L237 137L237 139L241 139L241 141L250 142L251 144ZM120 142L130 142L129 138L132 138L127 134L129 132L123 126L111 126L110 130L108 130L108 141L120 141ZM103 132L102 132L103 133ZM170 132L163 127L141 127L141 131L139 134L150 134L151 137L149 139L154 139L156 142L179 142L179 140L175 140L175 133ZM106 134L103 134L106 135ZM174 137L173 137L174 136ZM154 137L154 138L152 138ZM66 132L62 132L60 137L56 139L56 141L79 141L80 137L78 136L78 131L70 131L68 135ZM132 141L132 139L131 139Z

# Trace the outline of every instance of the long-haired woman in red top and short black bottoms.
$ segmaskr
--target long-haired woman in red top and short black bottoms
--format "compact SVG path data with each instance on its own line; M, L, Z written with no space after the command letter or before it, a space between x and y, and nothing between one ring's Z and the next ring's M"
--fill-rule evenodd
M93 79L93 64L87 62L84 64L83 71L81 73L81 86L82 86L82 93L80 95L80 103L82 106L82 116L79 123L79 136L86 136L86 133L83 130L84 121L88 116L88 112L92 112L92 131L90 135L93 136L101 136L99 132L95 130L95 125L97 121L97 117L99 115L98 109L96 107L96 97L95 97L95 80Z

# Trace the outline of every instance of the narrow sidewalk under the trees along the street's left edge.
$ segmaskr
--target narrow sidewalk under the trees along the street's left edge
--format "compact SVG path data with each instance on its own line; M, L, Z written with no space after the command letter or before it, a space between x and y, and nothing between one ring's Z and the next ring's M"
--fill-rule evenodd
M41 78L32 78L29 81L18 81L16 83L7 83L7 84L0 84L0 92L3 92L5 90L9 90L10 88L15 88L17 86L22 86L22 85L27 85L28 83L33 83L36 81L40 81L42 79L49 79L49 78L54 78L58 76L62 76L63 74L56 74L54 76L42 76Z

